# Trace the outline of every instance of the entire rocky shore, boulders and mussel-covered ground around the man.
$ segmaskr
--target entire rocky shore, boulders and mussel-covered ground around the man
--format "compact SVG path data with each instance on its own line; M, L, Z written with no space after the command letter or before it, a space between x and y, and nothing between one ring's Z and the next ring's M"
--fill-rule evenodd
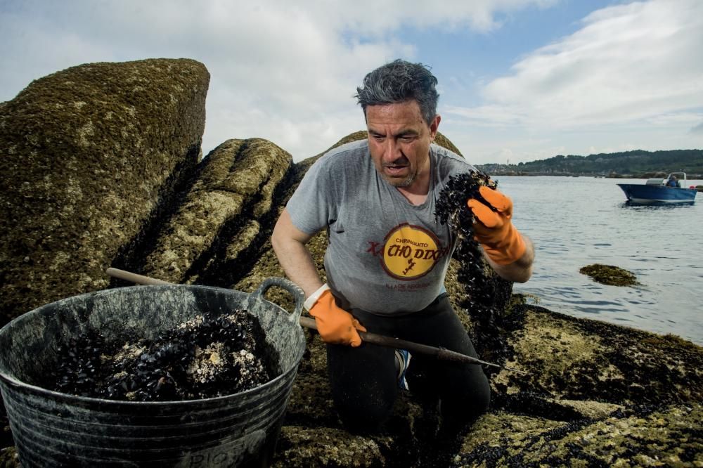
M202 157L208 82L187 59L86 64L0 103L0 325L125 285L110 266L245 292L283 276L271 229L320 155L294 163L249 138ZM321 274L326 242L321 233L310 243ZM481 281L465 278L453 261L446 287L479 355L527 372L484 369L491 409L468 434L438 438L437 402L411 393L384 433L347 433L323 343L307 331L273 465L703 466L703 348L528 305L485 268ZM283 290L267 297L292 309ZM411 389L413 379L422 376L408 375ZM4 412L0 425L0 467L18 466Z

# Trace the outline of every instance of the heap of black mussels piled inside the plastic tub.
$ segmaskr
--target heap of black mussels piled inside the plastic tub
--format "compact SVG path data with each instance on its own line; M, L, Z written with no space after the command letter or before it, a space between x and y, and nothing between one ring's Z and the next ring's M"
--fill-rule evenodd
M124 401L183 401L236 394L278 374L276 351L247 311L198 316L155 339L106 339L88 329L58 346L46 388Z

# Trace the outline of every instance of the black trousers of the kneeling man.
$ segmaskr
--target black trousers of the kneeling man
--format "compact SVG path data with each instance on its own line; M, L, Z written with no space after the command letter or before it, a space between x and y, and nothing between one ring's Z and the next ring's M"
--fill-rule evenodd
M478 357L446 294L406 316L350 312L369 332ZM328 344L327 360L335 408L344 426L363 434L378 431L399 392L394 349L366 342L357 348ZM411 392L420 392L423 401L432 401L432 396L439 400L442 429L458 432L488 408L491 390L480 365L415 353L408 374ZM415 380L416 375L421 377Z

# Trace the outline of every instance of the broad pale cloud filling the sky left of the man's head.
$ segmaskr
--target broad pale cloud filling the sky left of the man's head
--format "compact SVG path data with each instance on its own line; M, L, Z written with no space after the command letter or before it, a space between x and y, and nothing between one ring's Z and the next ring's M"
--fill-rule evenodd
M15 0L0 4L0 100L32 79L96 61L188 57L205 63L205 152L259 136L295 160L363 129L363 74L415 47L403 27L501 26L499 15L555 0Z

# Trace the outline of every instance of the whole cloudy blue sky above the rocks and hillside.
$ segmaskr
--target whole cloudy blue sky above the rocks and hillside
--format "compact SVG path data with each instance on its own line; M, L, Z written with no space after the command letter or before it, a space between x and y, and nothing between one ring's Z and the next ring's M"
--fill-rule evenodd
M202 62L205 155L323 152L366 129L356 86L396 58L431 67L473 164L703 148L702 0L0 0L0 31L0 102L82 63Z

